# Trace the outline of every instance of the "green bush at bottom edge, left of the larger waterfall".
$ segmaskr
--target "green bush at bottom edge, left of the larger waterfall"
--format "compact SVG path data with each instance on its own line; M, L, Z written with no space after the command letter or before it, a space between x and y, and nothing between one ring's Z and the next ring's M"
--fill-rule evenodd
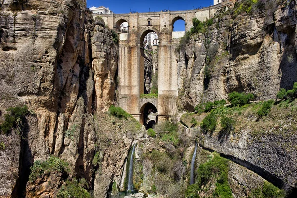
M60 188L57 193L58 198L91 198L91 194L88 193L84 186L86 185L86 180L81 179L80 182L77 180L69 181Z

